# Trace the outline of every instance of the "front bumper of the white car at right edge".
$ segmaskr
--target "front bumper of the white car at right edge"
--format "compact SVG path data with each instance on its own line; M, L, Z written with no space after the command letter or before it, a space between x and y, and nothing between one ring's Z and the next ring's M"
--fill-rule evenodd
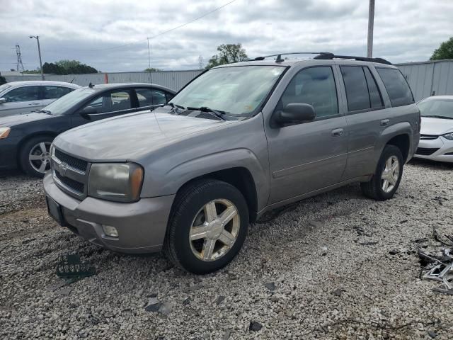
M435 139L420 138L415 158L431 159L439 162L453 162L453 140L439 136Z

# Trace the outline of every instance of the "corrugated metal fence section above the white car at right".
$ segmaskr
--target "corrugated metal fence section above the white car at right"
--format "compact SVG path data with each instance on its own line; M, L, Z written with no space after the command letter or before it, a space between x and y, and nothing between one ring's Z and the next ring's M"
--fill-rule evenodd
M429 96L453 95L453 60L396 64L408 79L415 101Z

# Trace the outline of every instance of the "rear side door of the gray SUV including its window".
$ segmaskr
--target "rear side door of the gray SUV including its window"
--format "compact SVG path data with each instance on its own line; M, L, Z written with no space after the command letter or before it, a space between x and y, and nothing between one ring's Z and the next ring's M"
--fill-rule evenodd
M377 166L377 141L389 125L390 108L384 105L374 67L339 65L348 123L348 163L343 180L373 174Z

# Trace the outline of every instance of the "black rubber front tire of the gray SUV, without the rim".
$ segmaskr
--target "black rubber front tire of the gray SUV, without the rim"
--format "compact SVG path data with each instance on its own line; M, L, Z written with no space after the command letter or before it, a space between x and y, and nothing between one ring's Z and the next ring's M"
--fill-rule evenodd
M239 235L232 248L222 258L216 261L202 261L193 254L190 248L189 232L192 222L197 212L214 199L224 198L231 201L239 212L240 229ZM203 274L217 271L226 266L242 247L246 239L248 229L248 208L246 200L241 193L228 183L216 181L214 185L206 186L202 191L193 191L188 199L183 201L179 207L176 207L176 213L173 214L171 221L172 228L176 228L176 237L173 238L172 245L180 266L191 273Z

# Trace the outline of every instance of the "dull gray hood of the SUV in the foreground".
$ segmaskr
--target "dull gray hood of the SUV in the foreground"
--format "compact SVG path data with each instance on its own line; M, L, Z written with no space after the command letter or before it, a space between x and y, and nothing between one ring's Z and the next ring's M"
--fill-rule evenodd
M63 132L55 146L92 162L137 161L164 145L236 121L141 111L100 120Z

